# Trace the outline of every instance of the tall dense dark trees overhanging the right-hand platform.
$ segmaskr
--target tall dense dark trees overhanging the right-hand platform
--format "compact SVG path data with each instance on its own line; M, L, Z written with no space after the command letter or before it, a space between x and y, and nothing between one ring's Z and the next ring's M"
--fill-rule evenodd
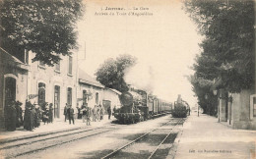
M188 0L185 10L205 37L190 81L199 105L211 114L216 112L211 104L217 102L211 90L215 79L222 79L222 87L229 92L253 86L254 1Z

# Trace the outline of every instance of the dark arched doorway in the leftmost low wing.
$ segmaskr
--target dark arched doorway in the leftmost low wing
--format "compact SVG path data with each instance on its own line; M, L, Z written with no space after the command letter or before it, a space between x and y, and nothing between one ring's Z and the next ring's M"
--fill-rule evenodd
M16 79L8 77L5 78L5 106L12 100L16 100Z

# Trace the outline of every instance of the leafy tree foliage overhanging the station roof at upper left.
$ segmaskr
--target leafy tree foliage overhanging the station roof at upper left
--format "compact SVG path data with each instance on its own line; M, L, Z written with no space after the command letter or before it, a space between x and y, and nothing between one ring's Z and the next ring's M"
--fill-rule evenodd
M77 47L76 22L82 16L82 0L0 1L1 47L17 53L35 53L33 61L52 66Z

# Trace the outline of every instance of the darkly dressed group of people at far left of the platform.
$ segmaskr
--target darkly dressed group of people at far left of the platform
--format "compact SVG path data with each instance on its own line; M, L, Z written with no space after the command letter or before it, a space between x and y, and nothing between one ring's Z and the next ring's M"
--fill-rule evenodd
M32 131L40 126L42 121L45 124L53 122L52 104L44 103L42 107L32 104L27 100L25 111L23 112L20 101L11 101L5 107L5 128L7 131L16 131L17 128L24 127L27 131Z

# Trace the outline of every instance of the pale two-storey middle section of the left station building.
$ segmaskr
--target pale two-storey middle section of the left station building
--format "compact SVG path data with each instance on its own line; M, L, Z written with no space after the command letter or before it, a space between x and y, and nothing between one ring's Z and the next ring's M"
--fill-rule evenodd
M61 56L62 60L53 67L42 62L32 62L34 53L26 52L30 71L28 73L28 94L35 95L32 103L53 104L54 118L64 118L66 103L73 108L77 103L77 54Z

